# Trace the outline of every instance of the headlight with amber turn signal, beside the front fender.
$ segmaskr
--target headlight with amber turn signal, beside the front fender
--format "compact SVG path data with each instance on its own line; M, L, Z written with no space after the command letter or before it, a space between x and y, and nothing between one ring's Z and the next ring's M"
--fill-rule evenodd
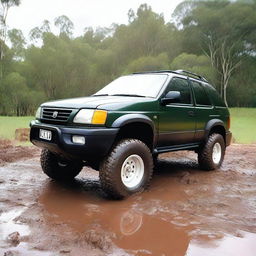
M94 109L81 109L75 116L73 122L79 124L105 124L107 111Z

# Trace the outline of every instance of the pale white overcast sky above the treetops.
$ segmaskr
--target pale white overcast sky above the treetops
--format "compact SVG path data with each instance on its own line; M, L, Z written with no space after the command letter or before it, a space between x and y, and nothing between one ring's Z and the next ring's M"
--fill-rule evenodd
M109 27L112 23L127 24L129 9L137 10L147 3L157 13L163 13L165 21L171 19L175 7L182 0L21 0L19 7L10 9L9 29L21 29L27 37L29 31L41 26L47 19L54 23L60 15L68 16L75 25L74 35L81 35L85 27Z

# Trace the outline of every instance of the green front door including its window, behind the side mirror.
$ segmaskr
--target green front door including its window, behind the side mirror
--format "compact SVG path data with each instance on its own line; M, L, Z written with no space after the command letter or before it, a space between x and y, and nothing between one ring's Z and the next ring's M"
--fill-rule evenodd
M174 146L194 142L195 108L187 79L174 77L163 97L169 91L179 91L179 103L160 105L158 146Z

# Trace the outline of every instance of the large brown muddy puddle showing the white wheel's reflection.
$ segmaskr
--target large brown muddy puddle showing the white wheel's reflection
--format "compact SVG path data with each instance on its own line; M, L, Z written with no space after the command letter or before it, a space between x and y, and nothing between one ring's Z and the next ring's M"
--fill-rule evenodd
M177 176L172 175L161 173L149 191L123 201L104 199L97 178L60 185L48 182L39 202L47 212L44 218L49 225L65 223L74 232L84 233L93 230L96 224L104 232L114 234L112 242L131 255L253 255L256 250L253 234L243 238L225 236L225 227L216 228L213 224L220 220L219 211L226 210L226 206L214 198L212 201L204 198L206 193L211 196L222 190L218 192L218 187L202 190L205 185L196 184L189 187L194 191L189 196L188 186L181 185ZM202 218L204 222L209 219L212 222L202 225ZM200 230L199 235L195 230ZM247 247L247 254L235 249L240 244Z

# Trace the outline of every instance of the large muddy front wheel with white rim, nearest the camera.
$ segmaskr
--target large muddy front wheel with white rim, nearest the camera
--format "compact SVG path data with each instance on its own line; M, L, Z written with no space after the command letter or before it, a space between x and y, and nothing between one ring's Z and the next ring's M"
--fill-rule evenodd
M151 152L143 142L136 139L117 143L100 166L102 188L115 199L145 190L152 174Z

